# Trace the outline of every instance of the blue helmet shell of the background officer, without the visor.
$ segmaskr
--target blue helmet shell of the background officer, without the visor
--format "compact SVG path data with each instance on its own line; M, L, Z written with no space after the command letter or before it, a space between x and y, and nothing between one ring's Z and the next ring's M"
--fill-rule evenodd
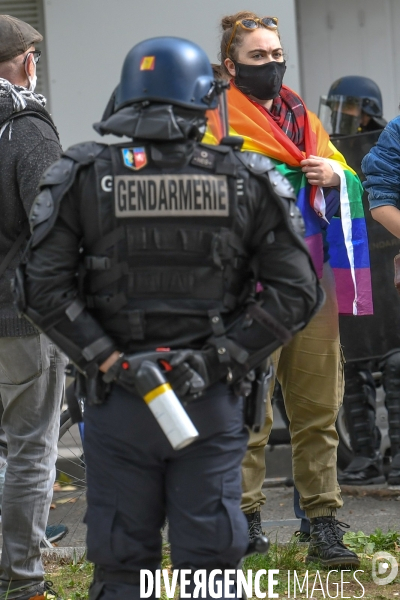
M341 77L332 83L328 92L328 102L333 96L347 96L360 99L361 110L370 117L383 116L382 94L372 79L359 75Z

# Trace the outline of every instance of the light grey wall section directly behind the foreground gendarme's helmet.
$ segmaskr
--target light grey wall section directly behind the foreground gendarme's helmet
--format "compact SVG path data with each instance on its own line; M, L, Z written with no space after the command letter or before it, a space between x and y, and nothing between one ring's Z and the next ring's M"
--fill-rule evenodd
M300 91L294 2L44 0L50 104L64 148L100 139L91 124L100 119L124 57L137 42L159 35L184 37L216 62L220 18L243 9L279 17L288 54L285 83Z

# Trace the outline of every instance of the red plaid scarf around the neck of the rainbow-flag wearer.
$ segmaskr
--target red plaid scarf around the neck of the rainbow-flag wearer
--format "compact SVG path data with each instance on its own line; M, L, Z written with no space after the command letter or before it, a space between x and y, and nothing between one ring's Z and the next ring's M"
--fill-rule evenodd
M297 94L286 86L282 86L279 96L274 99L271 110L267 110L256 102L253 102L253 104L261 112L268 113L299 150L305 150L304 123L306 109Z

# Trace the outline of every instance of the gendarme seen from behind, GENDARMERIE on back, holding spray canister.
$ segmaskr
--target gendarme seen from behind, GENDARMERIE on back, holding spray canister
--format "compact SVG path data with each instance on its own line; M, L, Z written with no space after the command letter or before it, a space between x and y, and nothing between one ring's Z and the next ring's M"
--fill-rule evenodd
M31 214L19 306L85 375L91 600L139 598L166 516L174 568L237 566L244 378L320 302L287 181L240 139L199 143L207 110L224 132L224 86L197 45L139 43L96 126L130 141L67 150Z

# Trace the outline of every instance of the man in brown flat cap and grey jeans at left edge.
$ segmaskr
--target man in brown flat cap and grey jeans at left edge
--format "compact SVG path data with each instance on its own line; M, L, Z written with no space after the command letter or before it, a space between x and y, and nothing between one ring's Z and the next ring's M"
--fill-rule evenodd
M0 450L7 448L0 599L9 600L38 600L51 591L40 542L52 497L66 365L54 344L19 316L10 289L40 178L61 153L46 99L35 93L35 44L42 39L28 23L0 15Z

